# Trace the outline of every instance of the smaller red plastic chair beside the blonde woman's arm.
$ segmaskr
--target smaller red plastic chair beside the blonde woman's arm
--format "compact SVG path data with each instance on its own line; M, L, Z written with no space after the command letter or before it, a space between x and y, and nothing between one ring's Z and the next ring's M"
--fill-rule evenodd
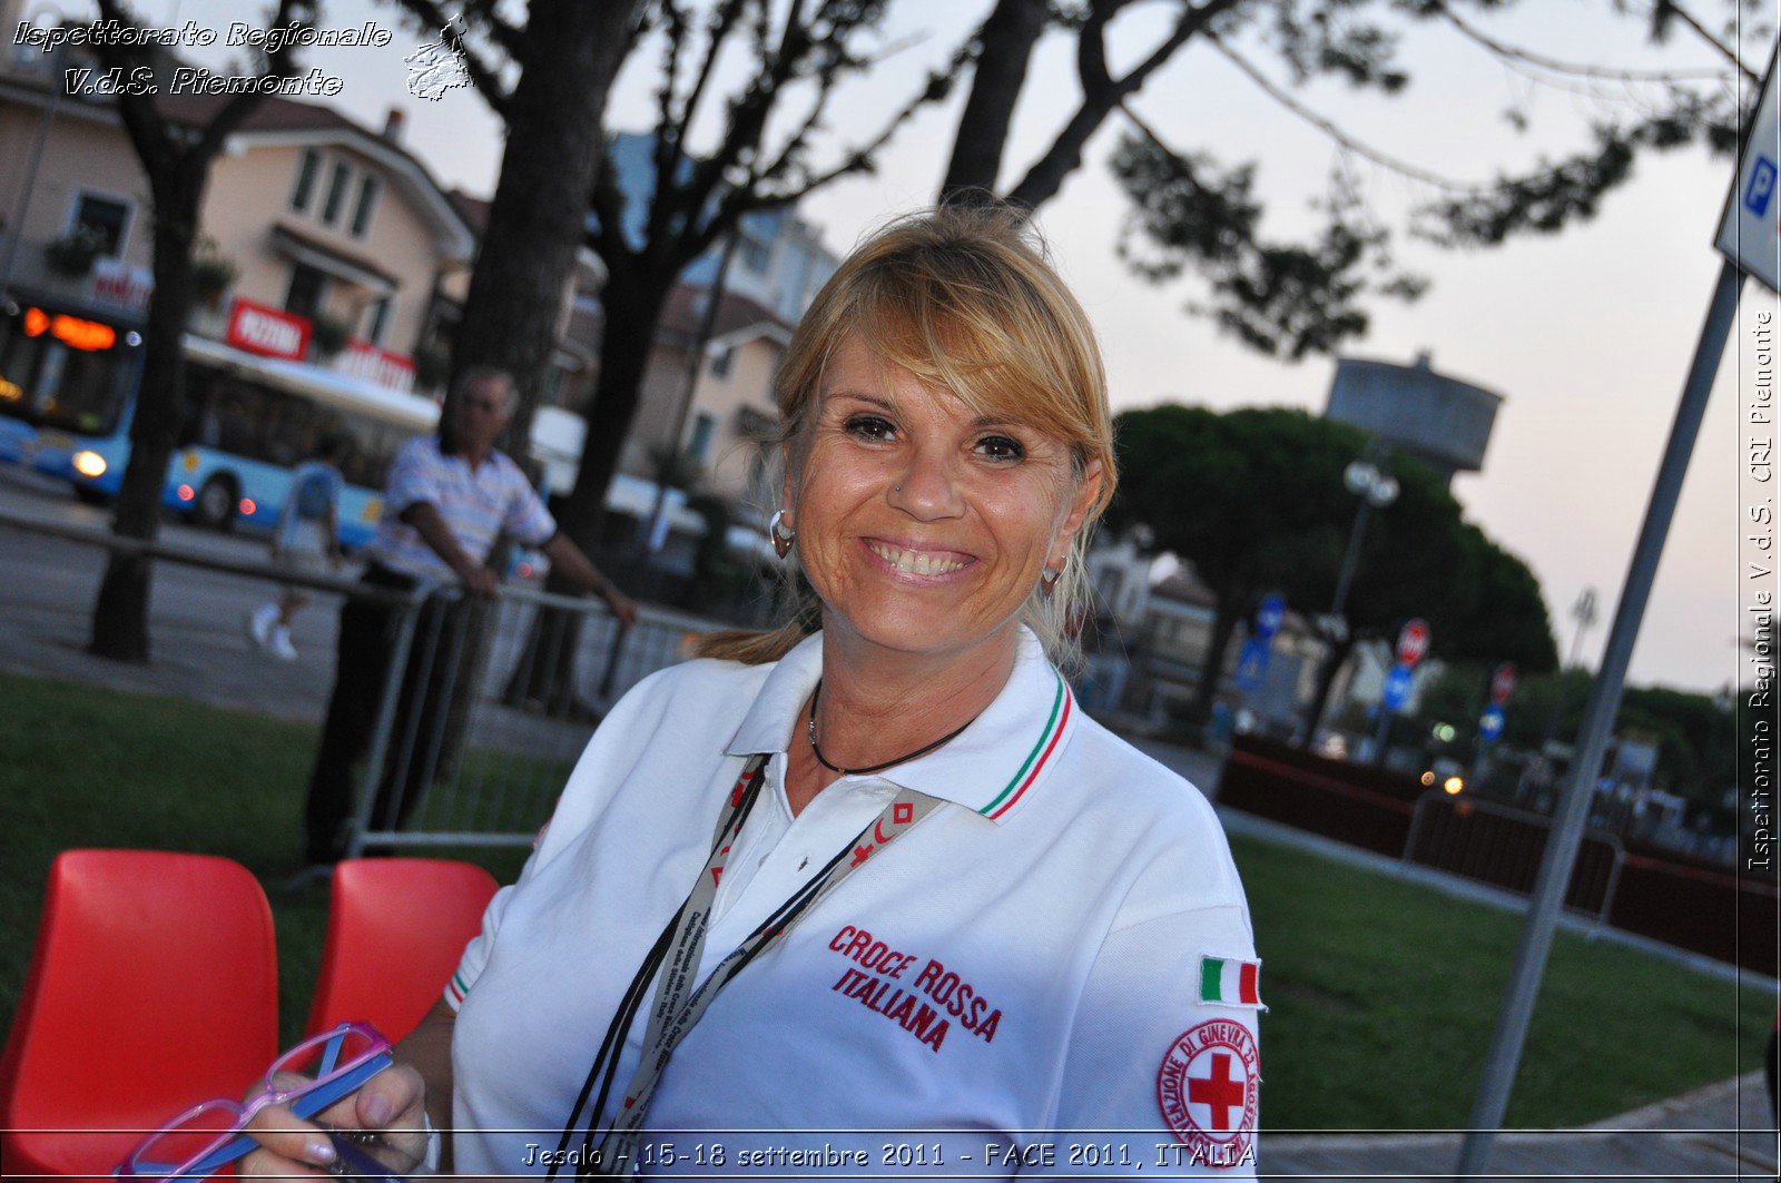
M392 1042L445 992L463 946L481 932L499 884L447 859L349 859L335 866L310 1032L347 1019Z

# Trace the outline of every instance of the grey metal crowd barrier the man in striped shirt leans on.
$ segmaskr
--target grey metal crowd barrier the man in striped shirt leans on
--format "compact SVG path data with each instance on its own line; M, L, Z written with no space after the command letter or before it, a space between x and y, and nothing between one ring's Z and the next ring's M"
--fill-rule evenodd
M511 584L488 602L417 590L360 771L349 857L367 846L529 844L600 713L711 627L647 609L625 629L600 600ZM538 695L538 681L554 684ZM424 695L438 725L415 706ZM403 787L379 802L385 779Z

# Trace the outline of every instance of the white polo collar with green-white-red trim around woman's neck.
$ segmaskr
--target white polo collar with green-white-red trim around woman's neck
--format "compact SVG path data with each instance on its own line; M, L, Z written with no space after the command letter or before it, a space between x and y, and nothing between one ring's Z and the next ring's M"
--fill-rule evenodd
M801 707L821 673L823 634L816 632L778 661L725 750L784 752L803 734ZM885 780L1001 821L1040 789L1070 739L1076 716L1069 684L1031 629L1021 625L1008 684L956 739L896 768L842 777L837 784Z

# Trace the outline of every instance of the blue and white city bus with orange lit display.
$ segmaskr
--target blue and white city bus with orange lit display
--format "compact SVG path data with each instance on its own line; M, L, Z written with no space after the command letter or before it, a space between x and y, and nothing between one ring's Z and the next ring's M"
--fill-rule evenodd
M0 321L0 460L109 501L130 460L141 333L53 306L11 303ZM167 469L169 510L216 529L271 529L292 469L346 442L340 542L370 542L390 458L438 424L438 406L335 371L185 337L185 428ZM11 453L11 456L9 456Z

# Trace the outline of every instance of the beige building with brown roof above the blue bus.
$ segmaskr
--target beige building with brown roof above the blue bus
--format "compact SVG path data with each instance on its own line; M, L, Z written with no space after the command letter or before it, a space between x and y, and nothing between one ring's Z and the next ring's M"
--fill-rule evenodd
M148 180L112 100L61 93L78 61L32 50L0 71L0 159L16 162L0 173L5 283L141 315L153 285ZM221 103L159 100L187 126ZM413 387L435 305L461 290L476 251L468 223L401 146L399 110L370 130L283 98L262 100L217 155L199 233L196 331L226 337L232 305L251 301L308 322L305 360L397 390Z

